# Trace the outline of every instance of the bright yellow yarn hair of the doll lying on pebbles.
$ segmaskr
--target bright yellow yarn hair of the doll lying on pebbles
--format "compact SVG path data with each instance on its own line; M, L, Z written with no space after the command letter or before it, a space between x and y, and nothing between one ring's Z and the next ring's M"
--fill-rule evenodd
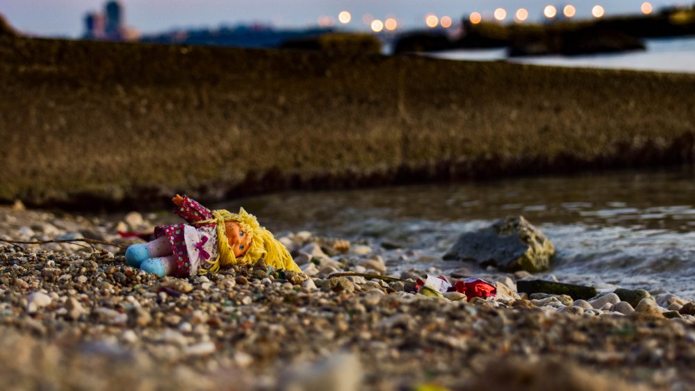
M239 213L231 213L229 210L213 210L214 219L195 222L194 224L215 223L217 224L218 235L218 257L215 260L206 260L210 267L201 269L199 272L217 273L222 266L231 266L236 264L252 265L263 258L265 265L275 267L276 269L292 270L300 272L300 268L292 259L289 251L275 237L259 225L258 220L254 215L247 213L244 208L239 209ZM234 251L227 240L227 229L225 222L236 222L239 224L240 231L248 235L248 246L243 256L236 258Z

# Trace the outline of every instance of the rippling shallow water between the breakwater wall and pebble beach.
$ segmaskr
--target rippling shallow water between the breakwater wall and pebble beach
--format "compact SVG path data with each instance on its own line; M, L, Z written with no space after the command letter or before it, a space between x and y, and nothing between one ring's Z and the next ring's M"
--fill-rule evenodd
M231 201L273 231L383 243L389 272L453 273L471 263L441 256L461 233L523 215L557 250L539 275L600 290L642 288L695 298L693 169L511 178L334 192L284 192ZM407 256L402 256L403 254Z

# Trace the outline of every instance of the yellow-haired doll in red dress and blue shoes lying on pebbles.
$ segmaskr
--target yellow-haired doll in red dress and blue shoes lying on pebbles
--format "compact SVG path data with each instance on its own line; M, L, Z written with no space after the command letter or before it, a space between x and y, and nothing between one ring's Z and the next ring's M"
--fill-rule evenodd
M174 213L188 224L156 227L155 240L128 247L128 265L160 277L185 278L199 271L216 273L220 267L252 264L263 258L266 265L301 272L284 245L244 208L239 213L211 211L179 194L172 201L177 206Z

